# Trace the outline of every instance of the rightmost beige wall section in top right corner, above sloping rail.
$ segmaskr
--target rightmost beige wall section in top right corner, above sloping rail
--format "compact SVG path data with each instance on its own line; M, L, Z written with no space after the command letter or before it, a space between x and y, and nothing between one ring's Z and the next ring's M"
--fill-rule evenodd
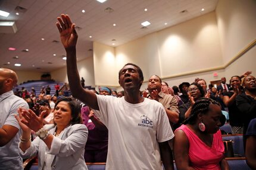
M223 61L227 63L256 39L256 1L220 0L216 16Z

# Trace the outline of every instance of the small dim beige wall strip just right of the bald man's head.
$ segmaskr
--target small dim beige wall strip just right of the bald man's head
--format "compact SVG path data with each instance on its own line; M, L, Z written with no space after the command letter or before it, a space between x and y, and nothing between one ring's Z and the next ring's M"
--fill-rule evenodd
M21 71L21 70L14 70L18 75L18 84L23 82L27 82L30 80L40 80L41 75L43 73L40 72L30 72L30 71Z

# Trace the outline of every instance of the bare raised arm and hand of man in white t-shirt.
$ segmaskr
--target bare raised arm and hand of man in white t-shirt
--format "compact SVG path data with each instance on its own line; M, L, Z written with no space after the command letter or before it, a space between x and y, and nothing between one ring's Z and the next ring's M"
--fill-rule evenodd
M67 77L73 97L85 102L89 107L99 110L96 94L92 91L83 89L80 84L79 72L76 64L76 43L77 33L68 15L61 14L56 23L60 32L61 43L67 53Z

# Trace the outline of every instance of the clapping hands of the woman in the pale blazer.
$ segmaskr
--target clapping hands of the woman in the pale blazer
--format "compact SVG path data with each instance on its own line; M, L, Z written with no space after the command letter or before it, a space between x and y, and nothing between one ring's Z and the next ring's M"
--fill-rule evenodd
M21 123L25 124L29 129L33 131L38 131L43 127L43 116L45 116L46 111L42 111L40 116L36 116L36 114L32 110L23 109L20 111Z

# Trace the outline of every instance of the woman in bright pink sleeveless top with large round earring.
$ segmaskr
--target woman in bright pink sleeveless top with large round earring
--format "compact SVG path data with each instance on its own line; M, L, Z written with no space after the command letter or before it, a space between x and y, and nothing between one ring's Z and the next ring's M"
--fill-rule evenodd
M223 114L218 102L209 98L195 102L185 124L175 131L177 169L229 169L224 159L221 123Z

